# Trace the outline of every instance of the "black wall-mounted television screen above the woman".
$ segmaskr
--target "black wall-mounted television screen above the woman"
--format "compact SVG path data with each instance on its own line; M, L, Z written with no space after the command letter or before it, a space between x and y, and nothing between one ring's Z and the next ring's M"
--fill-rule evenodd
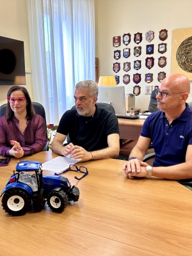
M24 84L24 42L0 36L0 85Z

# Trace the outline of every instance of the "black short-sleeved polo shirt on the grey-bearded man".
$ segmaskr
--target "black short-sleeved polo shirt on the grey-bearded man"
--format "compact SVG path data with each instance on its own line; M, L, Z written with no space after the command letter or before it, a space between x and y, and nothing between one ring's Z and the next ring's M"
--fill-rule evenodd
M97 105L93 116L81 116L76 109L67 110L61 117L57 132L67 134L74 145L87 151L108 147L108 135L119 134L116 115Z

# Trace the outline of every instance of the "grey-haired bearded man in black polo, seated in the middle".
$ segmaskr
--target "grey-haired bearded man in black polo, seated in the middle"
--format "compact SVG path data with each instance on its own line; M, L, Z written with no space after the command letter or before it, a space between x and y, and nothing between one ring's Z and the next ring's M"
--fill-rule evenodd
M92 80L76 84L76 109L63 114L51 143L56 154L84 161L118 156L118 120L114 113L97 106L98 93L98 85ZM70 143L63 146L67 135Z

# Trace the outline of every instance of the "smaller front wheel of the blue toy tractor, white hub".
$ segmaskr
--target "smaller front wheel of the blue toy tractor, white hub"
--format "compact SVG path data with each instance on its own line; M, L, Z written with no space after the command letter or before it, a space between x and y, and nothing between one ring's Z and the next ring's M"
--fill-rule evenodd
M62 212L68 205L68 196L61 191L51 191L47 195L47 204L54 212Z

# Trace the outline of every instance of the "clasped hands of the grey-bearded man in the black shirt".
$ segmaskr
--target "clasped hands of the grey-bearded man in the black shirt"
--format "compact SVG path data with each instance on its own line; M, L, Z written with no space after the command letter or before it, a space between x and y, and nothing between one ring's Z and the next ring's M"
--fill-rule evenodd
M83 147L74 146L73 143L69 143L62 150L63 156L68 156L74 159L83 159L84 161L88 161L92 159L92 154L86 151Z

